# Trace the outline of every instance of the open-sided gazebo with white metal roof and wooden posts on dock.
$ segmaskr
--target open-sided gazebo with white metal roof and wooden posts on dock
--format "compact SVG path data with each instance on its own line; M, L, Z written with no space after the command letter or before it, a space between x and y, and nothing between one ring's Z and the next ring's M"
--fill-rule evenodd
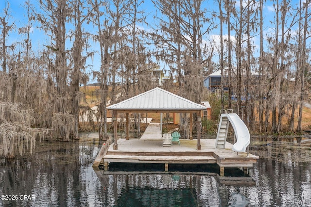
M107 109L112 110L114 123L114 146L118 149L117 144L117 115L118 113L126 114L126 138L129 139L129 113L190 113L190 140L192 137L193 113L197 114L197 150L201 150L200 136L201 131L201 112L206 110L206 107L192 102L183 97L177 96L171 92L161 88L141 93L132 98L121 101L117 104L108 106Z

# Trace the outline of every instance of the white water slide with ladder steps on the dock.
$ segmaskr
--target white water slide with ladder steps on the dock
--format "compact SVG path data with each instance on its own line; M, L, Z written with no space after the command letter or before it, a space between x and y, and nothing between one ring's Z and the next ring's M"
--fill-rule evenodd
M237 142L233 144L232 150L235 152L246 152L250 144L250 135L247 126L237 114L221 114L216 137L216 149L225 148L228 135L229 123L234 130Z

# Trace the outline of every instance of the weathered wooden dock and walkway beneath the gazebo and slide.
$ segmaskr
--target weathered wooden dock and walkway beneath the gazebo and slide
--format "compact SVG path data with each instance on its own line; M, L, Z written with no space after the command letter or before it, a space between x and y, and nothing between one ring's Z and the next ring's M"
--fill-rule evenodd
M238 154L231 150L232 144L226 142L226 148L215 149L216 139L201 139L201 150L196 150L197 140L180 139L180 145L162 147L159 124L149 124L140 139L118 139L118 149L103 145L96 160L108 171L109 163L163 163L169 171L169 164L211 164L220 167L220 176L224 176L224 167L253 167L258 156L247 153ZM149 129L148 129L149 128ZM95 164L95 163L94 163ZM95 166L96 167L96 166Z

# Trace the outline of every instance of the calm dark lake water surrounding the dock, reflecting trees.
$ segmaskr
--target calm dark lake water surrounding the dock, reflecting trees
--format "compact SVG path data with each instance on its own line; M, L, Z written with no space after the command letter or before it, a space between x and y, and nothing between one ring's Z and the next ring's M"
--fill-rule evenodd
M94 170L102 143L97 134L83 133L70 143L37 141L35 153L10 162L0 158L0 206L117 207L311 207L311 140L252 138L250 152L260 156L249 170L173 166L111 167ZM132 172L128 172L132 171Z

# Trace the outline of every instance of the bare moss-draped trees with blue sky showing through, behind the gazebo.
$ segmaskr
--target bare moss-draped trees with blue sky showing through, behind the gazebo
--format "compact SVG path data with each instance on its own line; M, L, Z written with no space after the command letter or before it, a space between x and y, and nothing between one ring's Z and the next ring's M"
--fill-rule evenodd
M209 101L206 130L213 131L221 109L233 109L250 131L301 134L311 128L311 109L303 107L311 100L311 2L265 3L27 0L17 8L5 1L0 155L33 152L37 137L79 139L86 113L95 114L92 128L106 139L107 105L155 87ZM150 14L146 6L154 8ZM208 90L204 78L219 70L219 87ZM91 82L97 88L88 90ZM139 132L142 115L131 116ZM188 125L182 115L183 133Z

